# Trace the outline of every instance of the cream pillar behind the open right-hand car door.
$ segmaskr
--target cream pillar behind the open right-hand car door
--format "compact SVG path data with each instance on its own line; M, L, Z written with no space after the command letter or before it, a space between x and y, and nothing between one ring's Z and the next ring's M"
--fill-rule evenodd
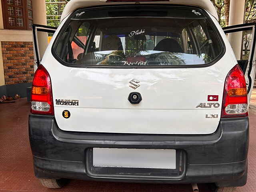
M229 26L244 23L245 0L230 0ZM236 59L241 59L242 32L228 34L228 40L234 50Z

